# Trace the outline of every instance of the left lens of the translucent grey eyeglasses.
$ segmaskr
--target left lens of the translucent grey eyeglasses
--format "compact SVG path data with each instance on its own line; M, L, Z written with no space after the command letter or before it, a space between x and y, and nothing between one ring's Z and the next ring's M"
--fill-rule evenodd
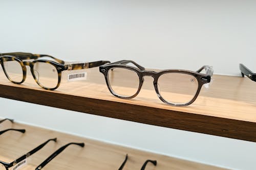
M108 72L112 90L124 97L130 97L138 91L140 79L137 72L126 68L112 68Z

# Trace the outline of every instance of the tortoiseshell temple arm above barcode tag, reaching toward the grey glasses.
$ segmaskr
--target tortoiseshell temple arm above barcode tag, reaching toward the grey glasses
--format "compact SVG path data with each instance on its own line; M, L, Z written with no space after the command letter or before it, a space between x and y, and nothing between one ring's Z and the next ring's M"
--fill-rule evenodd
M77 63L77 64L67 64L65 65L66 70L77 70L77 69L86 69L86 68L93 68L104 65L106 63L110 63L110 61L94 61L94 62L84 62L84 63Z

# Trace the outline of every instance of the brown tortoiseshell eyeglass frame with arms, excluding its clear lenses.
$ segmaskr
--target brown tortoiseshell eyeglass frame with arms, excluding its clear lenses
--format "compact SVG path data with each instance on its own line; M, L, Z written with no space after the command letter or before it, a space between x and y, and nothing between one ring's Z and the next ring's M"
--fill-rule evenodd
M50 57L55 61L51 61L51 60L44 60L44 59L38 59L40 57ZM35 59L34 61L23 61L23 60L31 60L31 59ZM20 66L22 67L23 70L23 79L20 82L14 82L11 80L11 78L8 76L7 71L4 67L4 61L17 61ZM58 72L58 83L56 85L56 87L54 88L48 88L48 87L44 87L42 86L36 79L36 76L34 74L34 64L38 63L38 62L42 62L42 63L49 63L51 65L53 65L57 72ZM106 64L106 63L110 63L110 61L95 61L95 62L82 62L82 63L70 63L70 64L65 64L65 61L62 61L60 59L57 59L55 57L49 56L49 55L41 55L41 54L31 54L31 53L22 53L22 52L16 52L16 53L2 53L0 54L0 63L3 67L3 70L5 72L6 77L14 84L22 84L27 77L27 68L26 66L30 67L31 70L31 74L35 80L35 82L42 88L46 89L46 90L55 90L59 87L60 85L60 81L61 81L61 71L64 70L77 70L77 69L86 69L86 68L92 68L92 67L98 67L100 65Z

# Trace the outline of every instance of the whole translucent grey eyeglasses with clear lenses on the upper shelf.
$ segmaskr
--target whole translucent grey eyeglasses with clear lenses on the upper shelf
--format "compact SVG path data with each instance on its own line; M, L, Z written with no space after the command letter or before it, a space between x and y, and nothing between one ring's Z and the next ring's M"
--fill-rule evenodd
M136 67L126 64L132 63ZM199 70L188 71L167 69L159 72L145 70L144 67L131 60L122 60L101 65L110 92L121 99L132 99L138 95L144 76L154 78L154 87L158 98L172 106L187 106L193 103L205 83L209 83L213 74L211 66L203 66ZM205 74L200 73L205 70Z

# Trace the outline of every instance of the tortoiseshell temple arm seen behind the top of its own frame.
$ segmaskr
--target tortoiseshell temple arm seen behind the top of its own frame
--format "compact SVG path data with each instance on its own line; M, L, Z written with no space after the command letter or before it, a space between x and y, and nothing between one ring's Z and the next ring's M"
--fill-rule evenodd
M30 60L30 59L38 59L40 57L50 57L61 64L65 64L65 61L57 59L57 58L49 56L49 55L45 55L45 54L32 54L32 53L23 53L23 52L2 53L1 54L1 56L5 56L5 55L18 57L20 60Z

